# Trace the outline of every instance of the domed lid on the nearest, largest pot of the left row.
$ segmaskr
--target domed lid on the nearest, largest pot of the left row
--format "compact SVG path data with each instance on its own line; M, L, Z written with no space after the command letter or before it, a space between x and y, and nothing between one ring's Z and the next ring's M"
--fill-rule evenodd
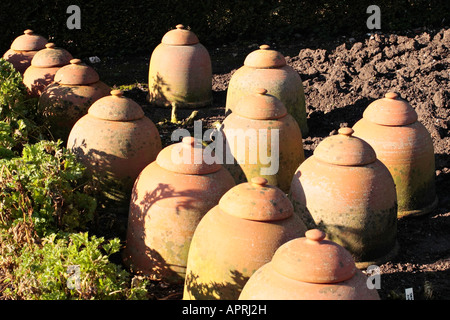
M110 96L95 101L88 113L91 116L111 121L133 121L144 117L142 107L124 97L121 90L112 90Z

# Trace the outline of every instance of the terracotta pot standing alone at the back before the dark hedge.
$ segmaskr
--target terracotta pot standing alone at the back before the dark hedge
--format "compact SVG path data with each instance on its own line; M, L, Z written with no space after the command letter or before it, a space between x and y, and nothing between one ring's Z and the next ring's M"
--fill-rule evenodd
M167 32L150 58L149 100L198 108L212 103L212 66L197 36L179 24Z

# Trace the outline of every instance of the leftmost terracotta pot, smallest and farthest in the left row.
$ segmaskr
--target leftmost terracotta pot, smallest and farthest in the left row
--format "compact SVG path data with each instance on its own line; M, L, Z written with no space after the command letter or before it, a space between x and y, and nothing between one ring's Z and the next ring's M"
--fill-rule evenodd
M11 48L5 52L3 59L9 61L22 75L31 65L34 55L45 48L47 39L27 29L24 34L18 36L11 44Z

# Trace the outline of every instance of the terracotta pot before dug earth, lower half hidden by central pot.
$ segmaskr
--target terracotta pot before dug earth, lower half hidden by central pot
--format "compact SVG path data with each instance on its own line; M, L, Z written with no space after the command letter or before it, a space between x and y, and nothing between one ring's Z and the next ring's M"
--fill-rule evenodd
M287 65L284 56L268 45L251 52L245 58L244 65L232 75L227 90L226 114L233 112L238 102L257 88L266 88L280 99L297 121L303 137L308 135L302 80Z

